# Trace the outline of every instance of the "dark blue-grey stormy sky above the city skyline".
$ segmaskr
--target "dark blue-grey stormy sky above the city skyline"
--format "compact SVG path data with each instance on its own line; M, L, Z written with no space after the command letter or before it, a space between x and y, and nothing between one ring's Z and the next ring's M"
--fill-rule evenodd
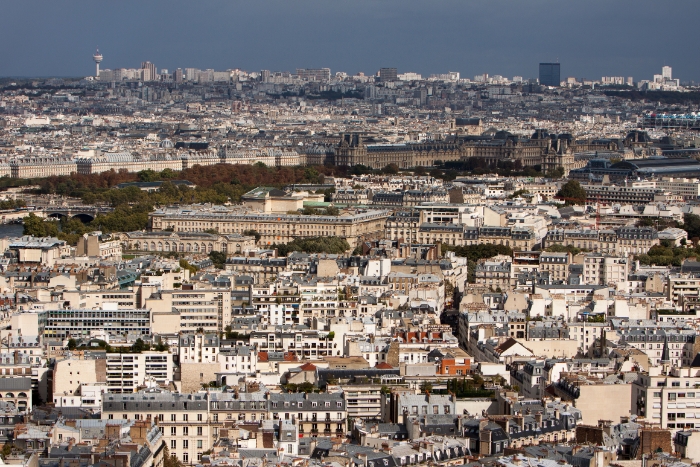
M0 76L102 68L700 81L698 0L2 0Z

